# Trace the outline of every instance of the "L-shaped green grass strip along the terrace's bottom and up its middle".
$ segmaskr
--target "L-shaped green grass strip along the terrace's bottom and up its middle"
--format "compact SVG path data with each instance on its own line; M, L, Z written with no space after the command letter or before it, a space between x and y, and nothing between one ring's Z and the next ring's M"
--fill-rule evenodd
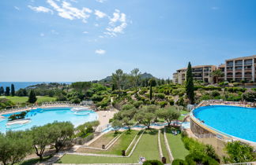
M130 158L66 155L60 159L59 163L138 163L141 156L144 156L145 159L160 160L157 146L157 130L147 130L142 135L141 141Z

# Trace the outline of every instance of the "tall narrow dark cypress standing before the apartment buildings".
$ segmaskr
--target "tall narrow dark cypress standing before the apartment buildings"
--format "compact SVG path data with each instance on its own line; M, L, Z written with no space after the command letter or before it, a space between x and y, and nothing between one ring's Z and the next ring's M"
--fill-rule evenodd
M190 104L194 104L194 83L193 83L193 75L192 75L192 67L189 62L186 69L186 96L190 100Z

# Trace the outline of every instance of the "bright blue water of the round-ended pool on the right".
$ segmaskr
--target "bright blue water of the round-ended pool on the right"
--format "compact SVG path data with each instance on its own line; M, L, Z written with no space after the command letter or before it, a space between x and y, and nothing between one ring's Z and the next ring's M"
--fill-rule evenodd
M256 108L212 105L194 109L194 116L225 134L256 142Z

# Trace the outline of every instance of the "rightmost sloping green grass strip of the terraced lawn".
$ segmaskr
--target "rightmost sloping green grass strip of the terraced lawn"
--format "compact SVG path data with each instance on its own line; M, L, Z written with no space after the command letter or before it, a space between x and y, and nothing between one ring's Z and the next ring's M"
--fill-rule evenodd
M171 133L166 134L168 138L168 143L171 148L171 153L174 159L185 159L185 157L189 154L189 151L185 148L181 134L174 135Z

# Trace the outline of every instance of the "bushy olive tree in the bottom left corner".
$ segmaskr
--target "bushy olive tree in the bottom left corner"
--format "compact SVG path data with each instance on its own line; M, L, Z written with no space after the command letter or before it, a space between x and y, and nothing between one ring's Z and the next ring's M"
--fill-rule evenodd
M31 138L23 131L0 134L0 161L3 164L20 162L32 150Z

